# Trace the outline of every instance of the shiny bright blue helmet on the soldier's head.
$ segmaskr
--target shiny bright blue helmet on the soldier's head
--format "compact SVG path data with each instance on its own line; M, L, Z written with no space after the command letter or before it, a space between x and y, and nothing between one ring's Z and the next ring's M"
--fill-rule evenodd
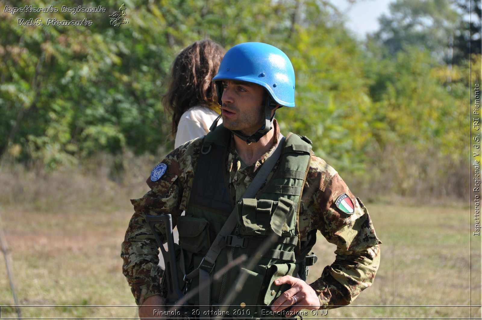
M277 104L295 107L295 70L288 56L270 44L245 42L228 50L213 78L220 105L221 80L259 84Z

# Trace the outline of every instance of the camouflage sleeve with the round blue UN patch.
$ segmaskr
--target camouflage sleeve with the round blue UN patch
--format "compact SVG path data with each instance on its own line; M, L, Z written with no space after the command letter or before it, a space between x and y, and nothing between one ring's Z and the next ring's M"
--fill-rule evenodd
M151 177L147 178L150 190L142 198L131 200L135 213L129 222L121 246L122 273L131 286L138 306L151 295L162 295L158 267L159 246L146 224L145 216L171 213L175 226L177 217L186 208L193 167L197 163L196 159L193 159L197 146L198 143L185 144L171 152L161 162L166 165L162 175L158 172L158 176L161 177L154 176L155 181L152 181ZM158 226L158 232L165 242L163 226Z

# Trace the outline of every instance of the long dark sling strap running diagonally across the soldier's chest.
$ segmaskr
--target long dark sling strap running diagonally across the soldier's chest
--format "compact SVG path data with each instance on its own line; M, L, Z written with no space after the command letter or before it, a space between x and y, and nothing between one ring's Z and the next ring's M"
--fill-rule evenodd
M258 190L261 188L265 180L268 178L269 173L273 170L274 165L281 156L281 151L283 148L285 138L280 133L278 137L278 146L276 146L273 154L268 157L268 159L263 163L259 172L254 177L251 184L248 186L242 198L254 198ZM226 242L224 238L230 234L236 224L238 219L236 218L236 207L229 214L228 220L224 223L223 227L214 239L208 253L202 258L199 267L194 269L192 272L186 275L187 279L194 279L194 277L199 275L199 309L201 314L209 314L211 306L211 272L214 269L214 265L219 253L225 247Z

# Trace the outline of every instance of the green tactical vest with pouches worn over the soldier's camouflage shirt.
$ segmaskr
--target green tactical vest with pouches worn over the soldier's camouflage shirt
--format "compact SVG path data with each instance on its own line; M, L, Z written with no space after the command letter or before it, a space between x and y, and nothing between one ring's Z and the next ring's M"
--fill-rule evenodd
M300 253L298 212L311 146L300 136L288 134L278 167L256 199L241 199L234 204L226 178L230 137L230 131L219 125L204 138L186 215L177 220L185 267L179 275L200 265L235 208L238 224L225 238L226 247L211 273L212 310L229 305L229 317L265 318L262 314L266 314L267 306L290 288L276 286L274 280L285 275L296 277L305 258L295 253ZM266 250L260 252L263 245ZM184 282L179 280L182 286ZM241 286L239 293L227 299L237 284ZM196 288L199 277L185 285L187 290ZM194 295L188 303L199 306L199 296Z

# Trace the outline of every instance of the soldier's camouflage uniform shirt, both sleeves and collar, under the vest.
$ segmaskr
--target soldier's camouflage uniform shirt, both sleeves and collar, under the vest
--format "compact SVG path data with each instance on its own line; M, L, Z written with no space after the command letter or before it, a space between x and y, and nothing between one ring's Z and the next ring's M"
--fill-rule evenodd
M235 202L249 186L257 169L274 151L279 133L276 120L274 127L273 147L250 166L242 163L231 144L226 170L229 191ZM162 294L157 267L158 246L144 217L152 212L171 213L173 224L176 224L177 217L187 207L201 145L202 138L198 138L171 152L162 161L167 165L167 170L161 179L152 182L148 178L150 190L144 197L131 200L135 213L122 243L121 256L124 260L123 274L139 306L147 297ZM275 170L276 166L273 171ZM343 193L355 204L352 214L336 210L334 200ZM310 231L319 230L337 247L335 262L326 266L321 277L310 284L318 294L322 308L348 305L375 278L381 241L375 235L366 208L361 206L338 173L324 160L313 155L299 212L300 240L307 240Z

